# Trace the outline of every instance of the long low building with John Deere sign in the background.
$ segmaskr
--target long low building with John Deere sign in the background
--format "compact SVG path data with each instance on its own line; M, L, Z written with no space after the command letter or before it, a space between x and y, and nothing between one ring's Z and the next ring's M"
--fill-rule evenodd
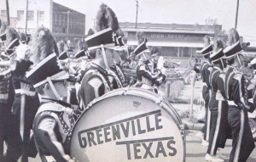
M160 54L171 57L190 57L204 47L203 37L209 35L215 40L220 35L222 25L177 25L119 23L128 37L128 44L137 46L137 31L143 31L148 38L148 47L156 46Z

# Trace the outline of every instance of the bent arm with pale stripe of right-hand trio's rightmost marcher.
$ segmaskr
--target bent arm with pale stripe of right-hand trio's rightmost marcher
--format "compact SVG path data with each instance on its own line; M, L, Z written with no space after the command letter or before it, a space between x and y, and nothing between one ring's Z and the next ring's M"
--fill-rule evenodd
M241 74L236 74L234 78L237 80L235 82L236 92L234 95L234 101L241 101L243 107L249 112L253 112L255 109L253 103L249 103L246 98L246 89L245 89L245 79Z

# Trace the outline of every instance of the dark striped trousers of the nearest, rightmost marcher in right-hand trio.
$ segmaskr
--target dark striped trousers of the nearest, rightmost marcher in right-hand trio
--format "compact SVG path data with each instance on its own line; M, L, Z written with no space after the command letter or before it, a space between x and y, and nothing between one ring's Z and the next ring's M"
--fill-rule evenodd
M232 150L230 162L245 162L255 147L253 134L248 123L247 110L229 106L228 120L232 131Z

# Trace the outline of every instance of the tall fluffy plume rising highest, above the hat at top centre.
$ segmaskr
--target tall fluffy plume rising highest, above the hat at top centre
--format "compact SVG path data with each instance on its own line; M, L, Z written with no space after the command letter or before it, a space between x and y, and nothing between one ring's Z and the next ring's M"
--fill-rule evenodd
M96 31L102 31L107 28L112 28L119 36L124 36L123 31L119 28L119 21L113 10L108 5L102 3L99 11L96 14Z

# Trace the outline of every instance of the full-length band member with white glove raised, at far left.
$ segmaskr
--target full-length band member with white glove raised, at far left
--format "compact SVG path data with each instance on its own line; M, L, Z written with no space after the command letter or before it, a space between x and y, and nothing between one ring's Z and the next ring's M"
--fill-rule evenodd
M16 31L12 28L7 32L14 37ZM19 42L18 37L7 47L6 53L14 55L13 63L11 64L11 74L13 87L15 88L15 101L12 106L12 112L15 120L15 130L20 131L22 139L22 161L27 161L28 156L35 156L30 152L32 120L39 106L38 95L29 81L26 80L25 74L29 70L32 62L29 61L30 49L26 44Z

